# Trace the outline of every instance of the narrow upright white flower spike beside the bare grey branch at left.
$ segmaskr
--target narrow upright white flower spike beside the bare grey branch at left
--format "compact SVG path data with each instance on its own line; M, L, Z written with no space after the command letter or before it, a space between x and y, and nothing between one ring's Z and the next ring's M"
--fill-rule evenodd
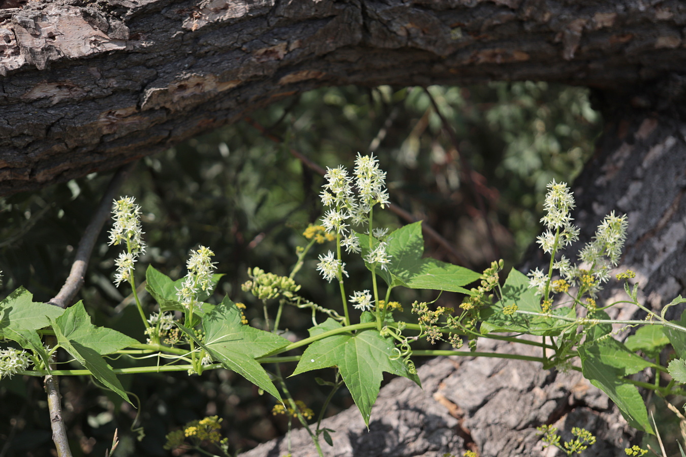
M113 203L112 214L115 223L110 230L109 245L127 245L127 251L119 254L115 260L117 273L115 284L128 281L134 269L134 262L145 254L145 242L141 237L141 207L135 204L134 197L121 197Z

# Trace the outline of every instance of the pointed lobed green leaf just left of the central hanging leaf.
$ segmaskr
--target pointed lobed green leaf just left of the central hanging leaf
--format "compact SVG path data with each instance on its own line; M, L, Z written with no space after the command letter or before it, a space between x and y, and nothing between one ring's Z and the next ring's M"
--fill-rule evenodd
M189 328L179 325L224 367L281 399L269 375L255 358L289 345L287 339L241 323L241 311L228 297L205 315L202 326L205 332L204 341L199 341Z

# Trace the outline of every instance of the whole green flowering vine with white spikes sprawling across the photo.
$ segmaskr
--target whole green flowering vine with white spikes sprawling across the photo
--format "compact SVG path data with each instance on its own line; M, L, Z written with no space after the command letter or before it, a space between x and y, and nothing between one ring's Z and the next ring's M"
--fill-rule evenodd
M578 238L578 227L570 217L573 196L565 183L550 183L542 219L547 231L539 236L539 244L550 256L549 267L547 271L536 269L528 275L513 269L501 284L502 260L477 273L423 258L421 222L391 233L376 227L375 209L388 204L385 177L373 156L358 155L352 174L343 166L328 169L321 194L327 212L322 225L311 225L305 231L308 241L298 249L291 273L279 276L259 268L248 271L250 279L243 290L263 302L265 328L248 325L243 313L245 306L229 297L217 305L207 301L221 277L215 273L214 254L208 247L191 251L188 273L178 280L148 266L145 288L155 303L141 303L134 274L135 264L145 251L140 208L132 197L122 197L114 203L115 222L110 231L110 244L125 248L116 260L115 284L127 283L131 287L145 335L129 336L96 327L81 301L62 309L34 302L31 293L20 287L0 302L0 338L5 342L0 350L0 375L91 375L104 388L130 402L117 378L119 374L187 371L192 375L230 369L274 396L279 401L274 413L284 412L298 420L323 455L320 439L331 445L333 432L321 425L326 405L315 418L314 412L290 395L284 382L286 374L294 376L332 367L335 380L320 382L331 388L327 404L333 393L345 385L369 425L383 371L421 384L412 357L500 356L539 362L543 369L580 370L617 404L630 425L654 433L637 388L654 391L661 397L685 393L681 384L686 382L686 312L679 321L667 321L665 310L686 300L677 297L658 315L639 302L638 285L630 286L627 281L626 300L604 306L596 303L598 291L617 266L626 217L609 214L593 240L580 251L579 263L573 263L558 256ZM319 256L317 266L324 280L335 281L339 286L340 295L331 297L327 304L309 301L300 294L296 281L316 243L333 243L331 251ZM355 256L362 257L370 272L371 289L359 290L348 284L346 262ZM618 277L628 280L633 273ZM473 283L475 286L468 288ZM405 322L399 320L397 312L401 304L392 299L394 289L402 287L429 289L436 291L436 295L440 291L458 292L465 298L457 310L418 301L405 304L416 315L416 321ZM278 303L273 320L267 314L270 301ZM647 313L646 319L610 319L605 310L617 303L641 308ZM308 337L292 343L280 336L285 306L311 312L313 326ZM351 307L362 311L359 321L351 317ZM613 324L621 327L613 330ZM641 324L644 325L626 342L614 338L628 326ZM523 335L541 338L532 341L521 338ZM430 343L446 341L453 349L460 349L468 341L470 351L413 350L412 343L421 338ZM479 352L478 338L534 345L540 348L541 356ZM672 345L676 352L676 358L667 367L636 354L642 351L655 356L666 345ZM78 362L82 368L56 365L54 356L60 348L71 356L69 362ZM300 355L284 355L296 349L302 351ZM137 360L132 367L114 369L106 361L113 354L119 355L120 360L147 358L151 363L141 367ZM293 373L283 373L279 364L293 361L298 362ZM268 371L265 365L273 368ZM665 386L659 383L659 375L654 377L654 383L630 378L644 369L669 373L672 380ZM208 417L186 424L183 430L167 436L167 447L185 445L202 450L202 443L213 443L215 449L228 455L228 443L219 432L220 421ZM554 429L547 427L542 432L547 443L559 445L559 438L555 441L552 434ZM584 443L593 441L590 435L583 436Z

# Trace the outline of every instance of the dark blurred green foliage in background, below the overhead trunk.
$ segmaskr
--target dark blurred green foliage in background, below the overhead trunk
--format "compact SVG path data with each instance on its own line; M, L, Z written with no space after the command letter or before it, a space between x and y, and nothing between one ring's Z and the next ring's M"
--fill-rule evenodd
M432 86L428 92L455 130L457 145L423 88L344 87L306 92L253 113L253 123L241 121L144 158L121 190L143 207L150 247L141 259L139 280L147 263L171 277L184 275L189 249L206 245L217 254L217 271L226 273L215 299L228 294L246 301L251 324L263 325L261 306L240 290L246 270L287 273L296 246L303 243L300 233L322 213L322 177L291 150L332 167L350 166L358 151L374 152L388 171L392 201L458 247L466 266L483 269L497 252L510 264L517 262L539 233L545 184L553 178L573 180L593 151L600 119L587 90L516 82ZM281 140L274 142L255 125ZM471 180L465 180L462 160L469 162ZM23 285L43 301L56 294L107 181L106 175L90 175L0 203L5 291ZM493 236L487 235L486 221ZM383 223L399 227L407 221L386 212ZM98 325L135 334L141 328L130 325L137 322L131 314L136 311L128 306L130 291L112 284L113 258L119 250L106 242L103 233L78 298L84 299ZM428 238L426 251L454 261ZM296 280L309 299L322 303L337 295L333 284L314 273L315 259L316 254ZM353 279L363 270L362 265L348 266ZM408 300L412 297L407 295ZM449 294L442 297L452 299ZM285 310L282 322L290 338L302 336L311 325L309 313L293 308ZM117 455L167 455L165 434L204 415L224 418L234 449L247 449L285 431L283 416L270 415L272 399L260 397L254 386L228 371L122 380L141 401L142 441L130 431L136 410L104 395L86 378L62 379L75 455L102 455L115 427L122 440ZM312 392L311 385L296 378L291 390L317 410L324 396ZM24 406L17 409L16 404ZM330 413L349 404L343 391ZM49 418L40 380L3 380L0 411L0 443L6 439L7 455L27 455L31 449L33 456L49 455Z

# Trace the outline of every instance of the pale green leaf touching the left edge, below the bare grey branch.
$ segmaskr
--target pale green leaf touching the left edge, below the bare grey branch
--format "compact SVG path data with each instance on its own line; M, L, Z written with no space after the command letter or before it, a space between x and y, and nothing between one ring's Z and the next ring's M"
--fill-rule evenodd
M59 306L36 303L32 298L29 291L20 287L0 301L0 337L10 338L4 335L5 328L16 331L47 327L49 319L56 319L64 312Z

